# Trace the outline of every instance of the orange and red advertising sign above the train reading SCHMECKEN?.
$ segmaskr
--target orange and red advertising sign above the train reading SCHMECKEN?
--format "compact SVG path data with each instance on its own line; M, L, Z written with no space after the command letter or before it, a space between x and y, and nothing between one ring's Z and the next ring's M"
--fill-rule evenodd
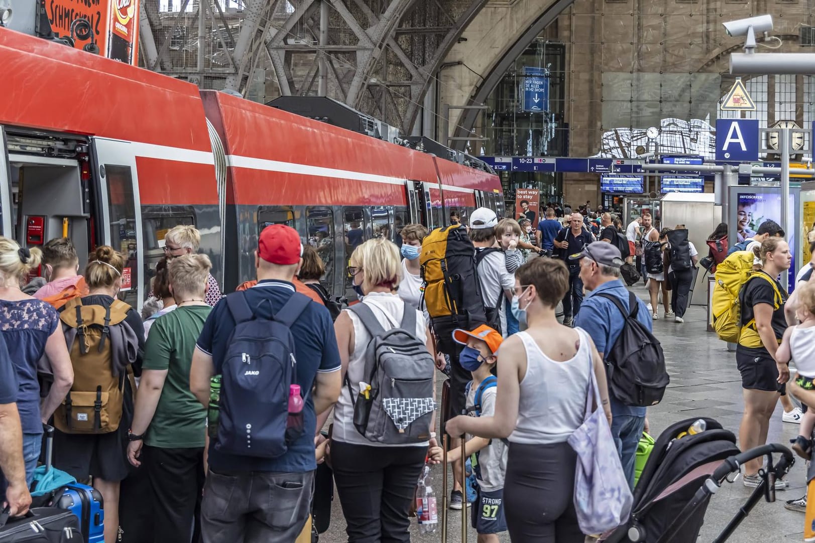
M77 37L75 21L90 23L99 55L128 64L139 63L139 0L46 0L51 31L58 37L71 37L76 49L90 44L90 37Z

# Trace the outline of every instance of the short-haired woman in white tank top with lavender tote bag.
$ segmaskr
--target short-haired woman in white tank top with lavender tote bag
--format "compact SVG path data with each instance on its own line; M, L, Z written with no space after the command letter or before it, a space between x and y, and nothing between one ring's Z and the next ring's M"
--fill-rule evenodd
M577 455L566 440L586 409L589 368L611 422L606 370L588 334L555 317L569 272L562 261L535 258L515 272L513 313L528 327L498 350L493 417L452 418L447 433L508 439L504 511L509 536L523 543L582 543L575 514Z

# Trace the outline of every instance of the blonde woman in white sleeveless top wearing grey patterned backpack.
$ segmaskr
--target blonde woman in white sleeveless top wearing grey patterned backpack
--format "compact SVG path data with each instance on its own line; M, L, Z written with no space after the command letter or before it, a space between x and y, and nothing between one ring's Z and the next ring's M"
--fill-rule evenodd
M399 327L405 311L415 313L416 338L434 353L430 332L421 313L397 294L402 265L399 248L386 239L370 239L356 247L348 272L355 287L363 292L362 304L371 310L385 330ZM354 401L368 356L372 335L350 309L334 323L342 361L342 377L348 386L334 409L331 459L337 493L345 515L348 541L410 541L410 508L416 480L425 464L429 441L410 445L374 443L357 431ZM368 361L370 364L371 361ZM428 359L430 371L434 362ZM351 395L354 395L352 398ZM328 411L321 417L328 417ZM318 421L318 427L319 427ZM430 436L432 423L427 429Z

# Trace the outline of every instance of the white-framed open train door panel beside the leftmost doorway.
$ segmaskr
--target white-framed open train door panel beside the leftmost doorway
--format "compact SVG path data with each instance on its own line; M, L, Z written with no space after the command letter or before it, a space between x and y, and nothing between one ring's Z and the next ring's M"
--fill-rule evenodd
M106 138L91 138L91 142L102 239L126 259L119 299L141 313L146 292L142 291L140 284L144 245L134 150L137 144Z

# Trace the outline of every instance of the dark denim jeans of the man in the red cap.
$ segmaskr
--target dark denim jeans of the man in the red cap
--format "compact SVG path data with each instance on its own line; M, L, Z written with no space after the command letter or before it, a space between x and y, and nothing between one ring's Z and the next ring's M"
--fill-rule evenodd
M293 543L311 507L314 471L209 470L201 501L204 543Z

